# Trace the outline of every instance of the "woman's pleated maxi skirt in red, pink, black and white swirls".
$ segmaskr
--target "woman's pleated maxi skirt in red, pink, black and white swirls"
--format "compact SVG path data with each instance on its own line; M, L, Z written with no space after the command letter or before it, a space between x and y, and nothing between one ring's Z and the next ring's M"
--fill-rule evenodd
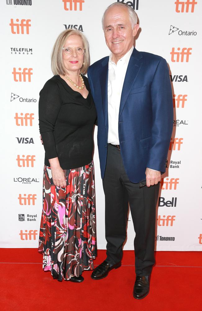
M38 248L44 271L58 281L93 270L97 255L93 161L64 173L67 187L57 187L50 167L44 166Z

